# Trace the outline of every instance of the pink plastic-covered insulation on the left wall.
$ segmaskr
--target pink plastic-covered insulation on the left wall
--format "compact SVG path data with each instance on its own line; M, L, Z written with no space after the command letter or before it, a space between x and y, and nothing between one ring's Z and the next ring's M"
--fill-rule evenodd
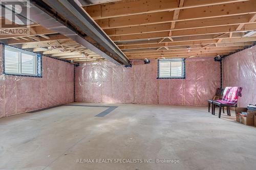
M0 45L0 117L74 102L74 65L42 57L42 78L5 76Z

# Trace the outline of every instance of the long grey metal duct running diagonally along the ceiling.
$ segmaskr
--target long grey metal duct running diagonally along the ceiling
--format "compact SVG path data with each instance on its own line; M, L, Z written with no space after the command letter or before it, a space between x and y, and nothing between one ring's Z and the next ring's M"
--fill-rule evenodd
M74 0L31 0L29 8L30 20L69 37L116 65L130 65L130 60ZM67 21L72 25L67 25ZM78 28L82 35L78 33ZM88 37L97 44L89 41Z

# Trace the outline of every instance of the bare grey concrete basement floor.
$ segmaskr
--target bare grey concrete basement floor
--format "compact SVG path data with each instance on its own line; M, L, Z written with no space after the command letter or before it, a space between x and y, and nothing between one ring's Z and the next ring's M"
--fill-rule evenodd
M104 105L85 104L83 105ZM255 169L256 128L206 107L60 106L0 119L0 169ZM77 163L175 159L179 163ZM116 160L115 160L116 159ZM129 160L124 160L129 161Z

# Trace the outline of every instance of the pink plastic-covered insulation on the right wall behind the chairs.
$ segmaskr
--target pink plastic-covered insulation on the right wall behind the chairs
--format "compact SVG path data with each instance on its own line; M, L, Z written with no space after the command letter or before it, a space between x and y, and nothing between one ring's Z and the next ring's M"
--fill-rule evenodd
M223 87L243 87L238 106L256 104L256 46L234 53L223 60Z

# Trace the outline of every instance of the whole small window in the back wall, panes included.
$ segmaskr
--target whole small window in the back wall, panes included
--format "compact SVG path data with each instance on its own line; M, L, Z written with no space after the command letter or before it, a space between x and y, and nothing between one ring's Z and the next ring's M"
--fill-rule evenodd
M158 79L185 79L185 59L158 60Z

